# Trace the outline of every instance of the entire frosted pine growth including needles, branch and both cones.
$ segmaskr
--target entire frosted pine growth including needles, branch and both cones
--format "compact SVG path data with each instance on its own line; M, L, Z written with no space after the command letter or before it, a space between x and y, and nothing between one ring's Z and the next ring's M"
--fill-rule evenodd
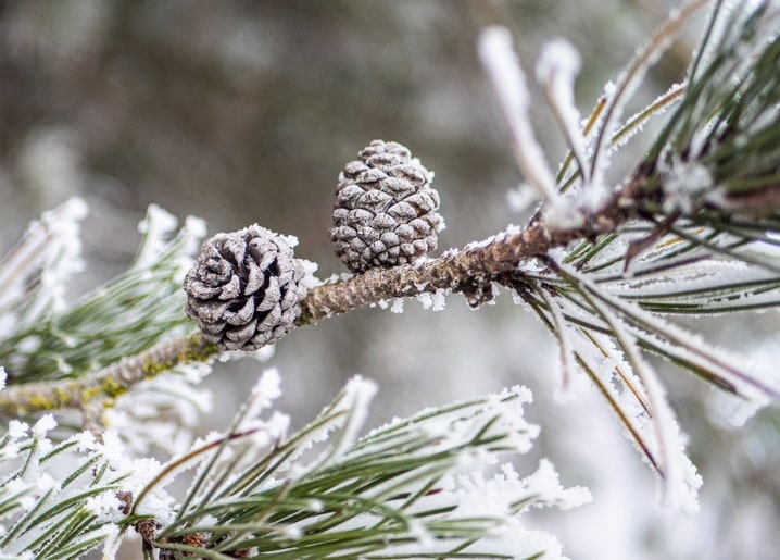
M562 558L524 513L592 497L565 488L546 459L515 470L539 435L525 387L366 430L377 385L357 376L292 431L271 368L229 426L190 439L216 357L257 357L282 336L294 345L298 327L394 298L462 294L479 308L502 288L556 338L559 390L589 379L664 503L694 511L703 481L650 358L737 398L739 421L780 398L772 364L676 322L780 304L780 7L709 4L674 12L582 121L582 60L564 40L549 45L537 78L569 147L557 173L534 138L512 34L486 27L476 48L539 206L524 227L440 257L432 173L385 140L339 176L329 235L351 274L324 282L293 256L292 236L251 225L203 244L201 220L179 227L152 206L131 266L65 301L84 266L86 204L32 223L0 261L2 557L113 558L125 546L147 559ZM647 69L705 7L684 80L625 117ZM651 119L665 121L650 150L613 177L612 160ZM177 446L152 459L165 440ZM175 480L186 489L169 488Z

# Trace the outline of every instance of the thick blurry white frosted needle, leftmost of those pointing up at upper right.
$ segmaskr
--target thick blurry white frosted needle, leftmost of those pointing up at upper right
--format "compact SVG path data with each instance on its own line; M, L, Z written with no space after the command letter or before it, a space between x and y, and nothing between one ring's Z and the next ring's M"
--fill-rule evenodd
M530 94L512 33L501 26L487 27L479 36L478 51L508 126L518 167L542 198L556 200L555 177L531 126Z

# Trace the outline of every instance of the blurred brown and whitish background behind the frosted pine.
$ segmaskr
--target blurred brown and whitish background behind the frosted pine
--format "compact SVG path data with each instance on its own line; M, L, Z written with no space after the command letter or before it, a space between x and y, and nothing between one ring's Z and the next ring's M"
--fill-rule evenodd
M374 138L406 145L436 172L448 223L440 250L482 239L527 216L507 203L521 177L477 61L479 29L509 26L529 75L541 46L567 37L582 54L577 100L587 113L667 9L650 0L0 1L0 251L41 211L78 195L91 209L89 266L74 297L127 266L152 202L204 217L210 234L254 222L293 234L297 256L325 278L342 272L327 234L338 173ZM634 109L681 79L701 24L651 72ZM534 95L555 165L564 145ZM641 158L641 139L630 150L618 172ZM739 318L734 334L737 320L695 327L780 359L776 312ZM372 425L529 386L537 400L527 415L542 435L518 472L546 456L565 485L587 485L595 498L533 519L571 558L780 558L777 409L730 431L709 387L665 370L705 483L697 515L663 512L652 473L606 405L588 389L553 400L557 350L508 295L478 311L455 296L439 313L416 301L402 314L360 310L297 331L271 365L282 374L279 409L299 426L356 373L380 386ZM224 426L261 368L216 366L204 431Z

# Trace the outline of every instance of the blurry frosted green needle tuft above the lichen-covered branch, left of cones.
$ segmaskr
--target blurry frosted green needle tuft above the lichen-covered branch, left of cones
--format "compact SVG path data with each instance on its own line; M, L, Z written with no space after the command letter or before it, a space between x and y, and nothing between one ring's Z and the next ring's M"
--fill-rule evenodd
M73 224L74 216L83 214L84 206L77 201L68 204L65 214L71 219L62 221ZM59 215L56 211L54 215ZM172 235L171 219L166 215L160 209L150 210L144 227L149 242L142 242L141 261L124 274L54 313L47 311L47 321L32 321L37 308L30 306L37 297L30 298L21 320L12 323L13 329L0 337L0 361L12 379L34 382L78 376L190 331L191 324L181 313L185 302L180 290L181 264L191 262L188 251L200 239L203 228L198 221L188 220ZM153 226L160 221L162 225ZM71 225L67 231L73 229ZM33 231L38 232L39 227L34 226ZM46 237L45 233L40 235ZM161 237L165 236L172 238L163 244ZM20 261L18 254L12 251L4 263ZM0 267L0 274L17 269ZM56 266L52 265L52 270ZM48 296L46 301L50 301Z

